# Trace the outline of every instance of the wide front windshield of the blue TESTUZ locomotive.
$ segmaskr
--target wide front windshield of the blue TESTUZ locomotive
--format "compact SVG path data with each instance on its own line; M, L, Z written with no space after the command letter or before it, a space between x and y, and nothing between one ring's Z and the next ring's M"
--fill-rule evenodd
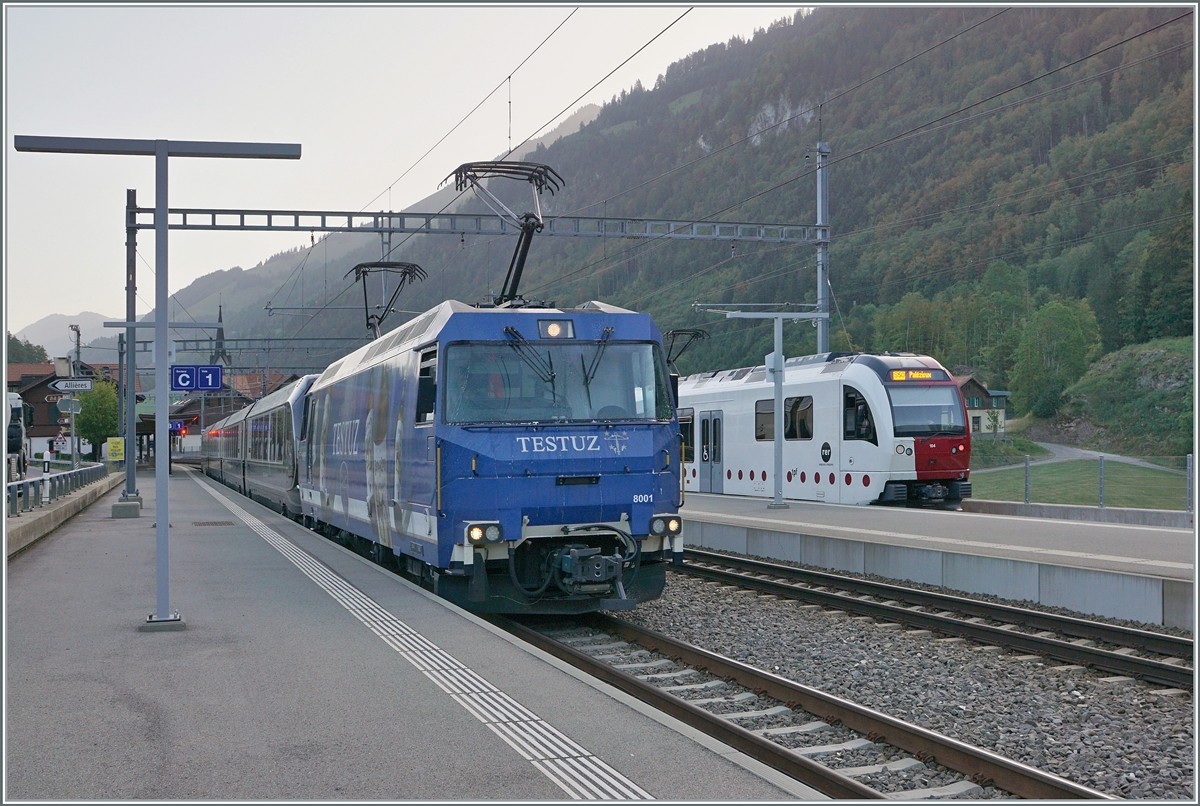
M445 359L448 423L670 420L652 343L470 342Z

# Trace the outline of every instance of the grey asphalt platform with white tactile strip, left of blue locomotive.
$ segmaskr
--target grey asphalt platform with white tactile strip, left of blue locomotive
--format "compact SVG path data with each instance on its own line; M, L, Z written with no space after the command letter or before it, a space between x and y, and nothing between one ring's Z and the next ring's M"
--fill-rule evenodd
M821 800L193 471L7 566L5 800Z

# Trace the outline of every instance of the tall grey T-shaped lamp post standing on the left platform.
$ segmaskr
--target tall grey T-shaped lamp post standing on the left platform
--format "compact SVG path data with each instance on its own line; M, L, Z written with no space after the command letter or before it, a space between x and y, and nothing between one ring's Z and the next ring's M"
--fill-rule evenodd
M90 137L34 137L18 134L17 151L52 154L109 154L152 156L155 158L155 321L125 321L118 326L127 332L152 326L155 333L155 444L170 445L169 390L170 366L167 356L168 327L185 326L167 321L167 161L168 157L223 157L235 160L299 160L299 143L216 143L198 140L134 140ZM215 323L188 323L186 326L212 327ZM128 339L127 341L133 341ZM155 565L157 607L138 628L143 631L182 630L184 619L170 609L168 476L170 451L166 462L155 462Z

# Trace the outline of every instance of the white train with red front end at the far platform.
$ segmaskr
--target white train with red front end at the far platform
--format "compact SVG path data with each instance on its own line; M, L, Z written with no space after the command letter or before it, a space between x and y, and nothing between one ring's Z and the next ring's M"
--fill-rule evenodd
M766 367L679 381L685 489L774 497L775 387ZM958 385L910 353L826 353L784 367L784 497L959 509L971 434Z

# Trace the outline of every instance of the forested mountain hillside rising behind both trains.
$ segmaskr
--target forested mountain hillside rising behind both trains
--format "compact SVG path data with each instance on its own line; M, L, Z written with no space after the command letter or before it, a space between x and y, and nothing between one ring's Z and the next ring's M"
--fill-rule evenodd
M1054 414L1100 356L1193 331L1192 30L1187 7L818 8L671 65L526 158L565 179L541 199L550 215L810 224L806 155L826 142L833 348L929 353ZM528 186L491 187L530 207ZM226 293L226 320L300 332L304 319L266 319L265 300L342 291L379 257L378 240L355 242L336 266L320 241L277 255L269 293L238 294L232 317ZM430 278L398 307L485 299L512 246L412 239L392 257ZM522 291L707 329L684 372L745 366L770 350L769 326L692 302L814 302L815 249L540 237ZM361 313L326 312L301 335L362 331ZM788 355L815 348L811 326L785 327Z

